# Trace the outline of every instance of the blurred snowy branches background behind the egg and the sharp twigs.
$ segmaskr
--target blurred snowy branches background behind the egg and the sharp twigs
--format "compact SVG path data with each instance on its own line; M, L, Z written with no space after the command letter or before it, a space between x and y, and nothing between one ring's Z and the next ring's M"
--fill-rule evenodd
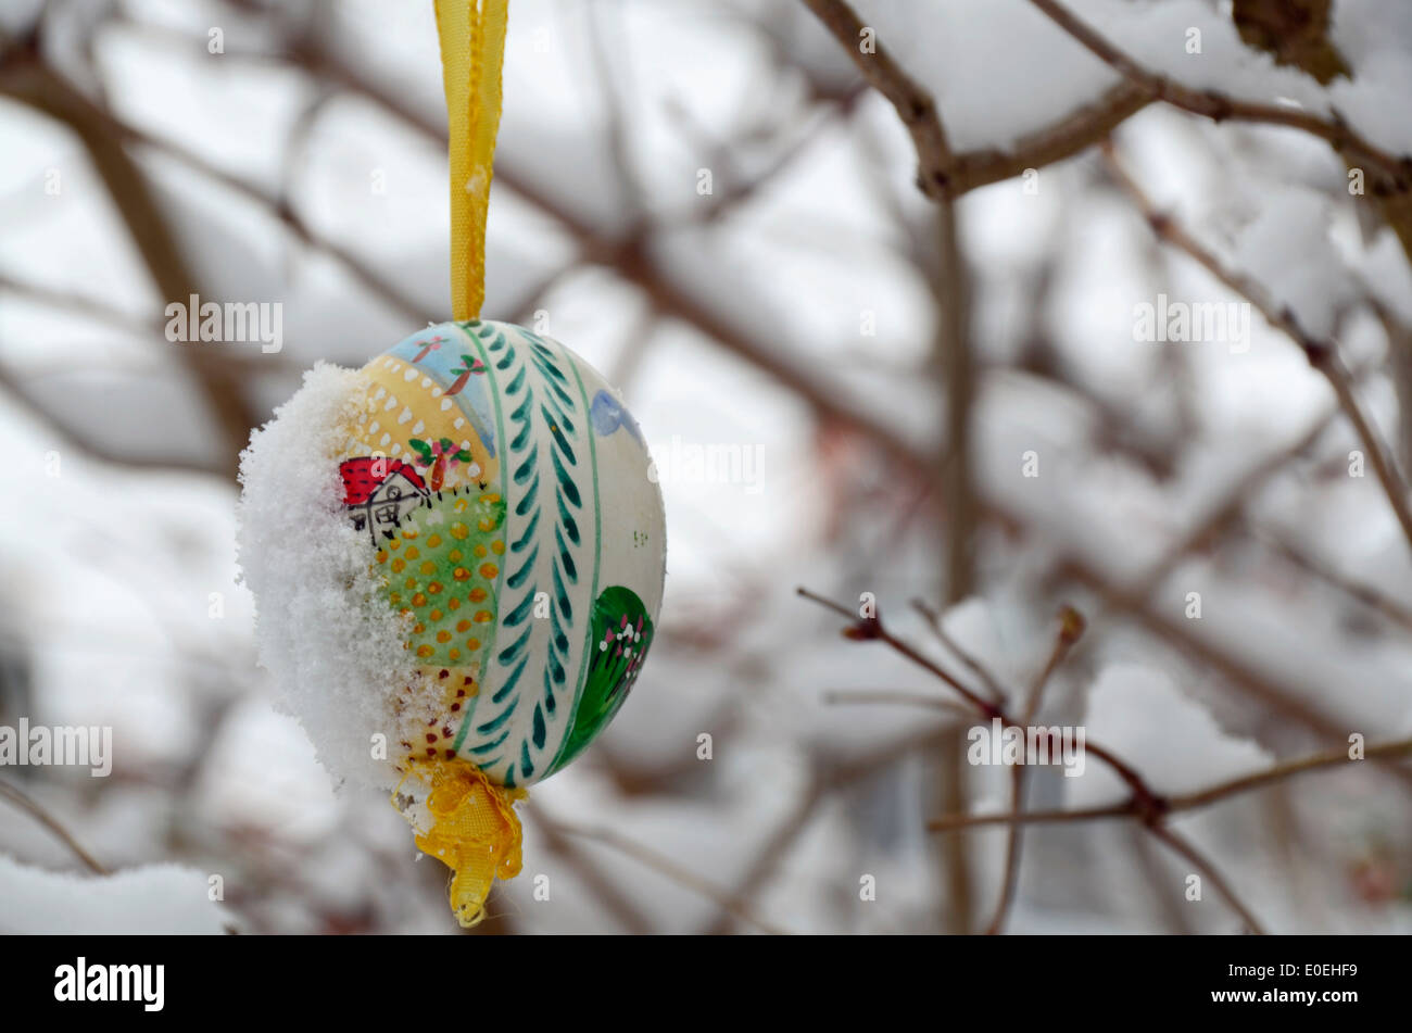
M1173 82L1412 154L1402 0L1067 8ZM1401 469L1412 172L1357 196L1310 133L1148 104L1029 0L856 10L936 97L955 206L798 0L511 3L484 312L623 388L671 548L633 700L532 793L480 933L991 923L1005 830L926 823L1008 810L1010 772L967 763L945 686L801 584L873 593L977 683L925 600L1012 700L1076 607L1041 718L1161 792L1412 734L1412 546L1365 442L1258 313L1243 340L1139 340L1159 295L1241 299L1093 144L1115 127L1155 205L1337 342ZM114 741L106 779L0 769L28 802L0 799L0 930L456 931L446 871L271 707L233 549L250 428L316 360L448 316L431 1L6 0L0 30L0 725ZM282 303L282 350L168 342L191 292ZM1172 827L1269 930L1408 931L1409 786L1368 761ZM1090 758L1036 771L1028 806L1120 792ZM1022 842L1010 931L1241 927L1134 821Z

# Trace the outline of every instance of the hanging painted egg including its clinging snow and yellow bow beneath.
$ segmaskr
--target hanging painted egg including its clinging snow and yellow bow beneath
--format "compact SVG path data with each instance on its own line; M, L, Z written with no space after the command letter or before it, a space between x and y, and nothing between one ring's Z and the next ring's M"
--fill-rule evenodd
M316 367L241 476L263 662L336 773L397 786L469 924L518 871L510 804L607 727L652 644L637 422L551 337L441 323Z

